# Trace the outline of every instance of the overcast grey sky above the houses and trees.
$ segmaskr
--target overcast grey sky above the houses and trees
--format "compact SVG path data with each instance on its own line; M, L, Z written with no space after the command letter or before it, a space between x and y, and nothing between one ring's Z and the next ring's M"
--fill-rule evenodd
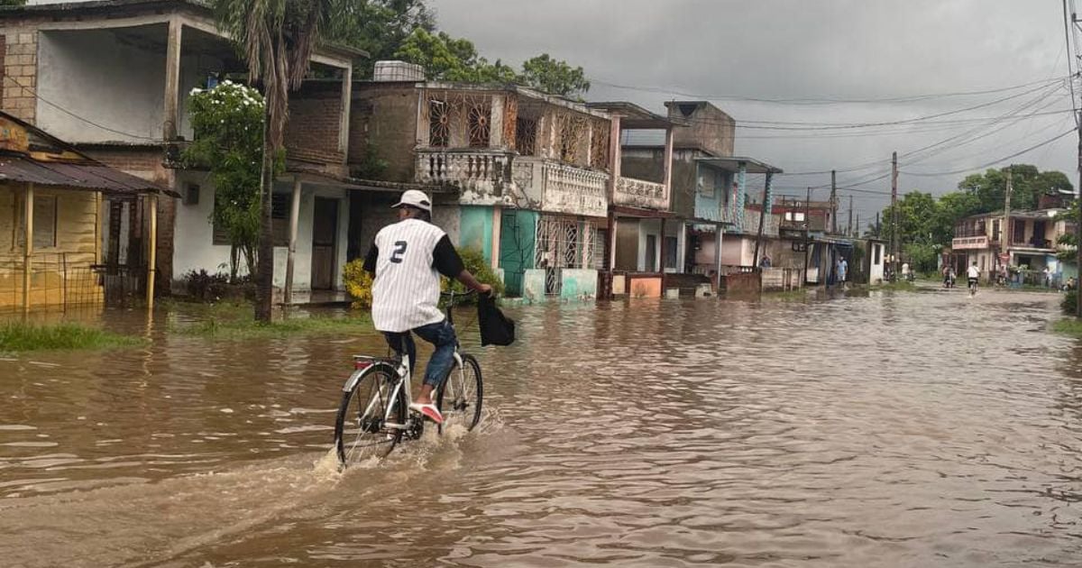
M786 172L836 169L846 186L889 171L899 193L952 190L978 167L1073 127L1060 0L432 0L441 29L489 60L517 66L539 53L581 65L590 101L664 110L669 100L711 100L738 123L736 154ZM1019 87L1025 85L1025 87ZM632 89L628 89L628 88ZM1013 90L1007 88L1018 87ZM998 92L886 102L884 98ZM869 101L768 104L749 101ZM1005 100L1004 100L1005 98ZM1000 101L1004 100L1004 101ZM968 107L972 110L954 113ZM794 122L889 122L836 130ZM1011 115L1014 113L1014 115ZM1018 118L1019 115L1039 116ZM1011 119L995 119L1011 115ZM782 122L769 124L765 122ZM928 150L915 151L938 142ZM1004 161L1055 169L1073 181L1078 138ZM869 168L853 170L874 162ZM782 193L830 182L783 175ZM863 220L885 206L889 177L843 189ZM829 189L815 195L827 197Z

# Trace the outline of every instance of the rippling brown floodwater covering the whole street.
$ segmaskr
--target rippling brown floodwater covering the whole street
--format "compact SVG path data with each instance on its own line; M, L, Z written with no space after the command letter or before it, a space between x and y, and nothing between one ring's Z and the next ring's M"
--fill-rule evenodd
M146 347L0 360L0 566L1078 566L1057 302L511 307L512 347L460 330L478 430L345 473L334 411L378 335L215 342L157 314Z

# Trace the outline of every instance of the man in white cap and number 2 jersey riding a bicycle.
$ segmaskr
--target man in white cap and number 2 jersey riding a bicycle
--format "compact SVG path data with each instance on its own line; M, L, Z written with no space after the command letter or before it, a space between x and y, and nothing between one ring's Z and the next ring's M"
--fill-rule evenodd
M432 392L450 371L458 343L454 328L439 309L439 275L483 294L491 292L492 287L477 281L465 269L447 234L432 224L428 196L410 189L393 207L398 209L398 222L375 235L365 259L365 270L374 276L372 323L399 356L405 347L410 371L417 365L411 332L436 347L421 393L409 407L439 424L444 417L432 402Z

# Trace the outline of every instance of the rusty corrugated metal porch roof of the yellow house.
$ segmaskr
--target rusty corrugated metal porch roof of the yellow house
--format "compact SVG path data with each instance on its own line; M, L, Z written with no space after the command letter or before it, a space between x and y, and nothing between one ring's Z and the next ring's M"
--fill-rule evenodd
M180 197L175 191L154 182L115 170L94 161L38 161L24 154L0 154L0 182L32 183L106 194L166 193Z

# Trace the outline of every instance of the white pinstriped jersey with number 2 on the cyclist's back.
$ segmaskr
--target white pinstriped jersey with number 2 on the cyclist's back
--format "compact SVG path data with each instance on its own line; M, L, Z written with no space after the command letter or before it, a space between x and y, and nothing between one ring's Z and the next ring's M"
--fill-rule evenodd
M436 243L446 237L431 223L407 219L375 235L379 255L372 283L372 323L379 331L403 332L444 320L439 311Z

